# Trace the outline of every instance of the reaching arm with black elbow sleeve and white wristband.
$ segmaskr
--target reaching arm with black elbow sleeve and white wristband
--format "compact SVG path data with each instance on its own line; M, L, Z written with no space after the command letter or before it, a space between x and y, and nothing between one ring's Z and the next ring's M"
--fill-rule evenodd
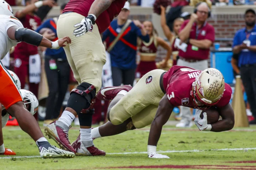
M71 39L69 37L63 37L55 42L52 42L37 32L18 26L10 27L7 30L7 35L11 40L26 42L28 44L44 46L52 49L58 49L60 47L66 46L64 43L71 43Z

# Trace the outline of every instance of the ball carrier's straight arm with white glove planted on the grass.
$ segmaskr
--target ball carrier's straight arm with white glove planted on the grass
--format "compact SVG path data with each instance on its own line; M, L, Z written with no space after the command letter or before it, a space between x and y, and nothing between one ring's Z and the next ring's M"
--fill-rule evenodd
M164 124L168 121L173 109L174 106L170 104L167 95L165 94L160 100L155 119L150 127L148 138L148 156L150 158L156 158L158 156L164 156L162 158L169 158L165 155L156 154L156 145L161 135L162 126L164 126Z

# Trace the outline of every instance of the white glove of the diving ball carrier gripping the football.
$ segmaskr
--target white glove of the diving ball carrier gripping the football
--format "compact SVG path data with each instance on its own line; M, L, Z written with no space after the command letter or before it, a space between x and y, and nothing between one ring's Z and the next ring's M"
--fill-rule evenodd
M212 125L207 124L207 114L206 112L203 113L203 119L201 119L201 110L197 110L194 123L198 127L200 131L210 131L212 129Z

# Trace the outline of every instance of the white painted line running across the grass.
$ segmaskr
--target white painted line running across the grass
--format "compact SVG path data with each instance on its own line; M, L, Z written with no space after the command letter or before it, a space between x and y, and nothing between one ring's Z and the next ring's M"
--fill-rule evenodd
M207 151L226 151L226 150L256 150L256 148L224 148L224 149L206 149L206 150L166 150L159 151L157 153L182 153L182 152L207 152ZM107 155L127 155L127 154L146 154L147 152L119 152L119 153L107 153ZM11 158L40 158L40 156L23 156L23 157L0 157L0 159Z

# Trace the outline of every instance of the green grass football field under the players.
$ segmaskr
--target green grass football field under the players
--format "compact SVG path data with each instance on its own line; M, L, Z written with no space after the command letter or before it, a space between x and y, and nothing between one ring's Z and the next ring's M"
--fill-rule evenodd
M3 128L5 147L13 149L17 154L16 157L20 158L0 156L0 170L149 168L256 170L256 126L214 133L198 131L196 126L177 129L165 125L158 143L158 151L165 152L162 154L168 155L170 159L147 158L149 128L96 139L94 144L106 151L105 157L42 159L34 157L39 155L38 148L25 132L19 127L5 127ZM70 141L73 142L78 134L79 127L73 126L69 131ZM49 141L57 145L53 140Z

